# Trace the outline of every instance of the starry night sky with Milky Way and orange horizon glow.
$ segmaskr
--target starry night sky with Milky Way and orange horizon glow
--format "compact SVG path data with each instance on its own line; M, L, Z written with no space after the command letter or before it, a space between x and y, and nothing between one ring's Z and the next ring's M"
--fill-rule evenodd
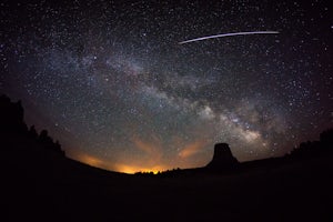
M1 1L0 92L67 155L133 173L279 157L333 127L329 1ZM179 42L220 33L278 31Z

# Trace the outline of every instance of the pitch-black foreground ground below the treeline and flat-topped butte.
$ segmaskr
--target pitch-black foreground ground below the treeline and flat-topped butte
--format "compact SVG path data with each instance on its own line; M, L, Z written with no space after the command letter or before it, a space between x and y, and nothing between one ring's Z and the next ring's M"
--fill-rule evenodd
M3 140L3 221L333 220L332 152L238 172L144 176L94 169L24 137Z

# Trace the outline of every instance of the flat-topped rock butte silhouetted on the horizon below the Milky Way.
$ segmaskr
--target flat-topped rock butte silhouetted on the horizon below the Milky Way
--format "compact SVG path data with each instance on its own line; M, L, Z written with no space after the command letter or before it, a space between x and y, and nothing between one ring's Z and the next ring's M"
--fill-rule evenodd
M232 170L239 165L239 161L232 155L228 143L218 143L214 147L212 161L206 165L210 170Z

